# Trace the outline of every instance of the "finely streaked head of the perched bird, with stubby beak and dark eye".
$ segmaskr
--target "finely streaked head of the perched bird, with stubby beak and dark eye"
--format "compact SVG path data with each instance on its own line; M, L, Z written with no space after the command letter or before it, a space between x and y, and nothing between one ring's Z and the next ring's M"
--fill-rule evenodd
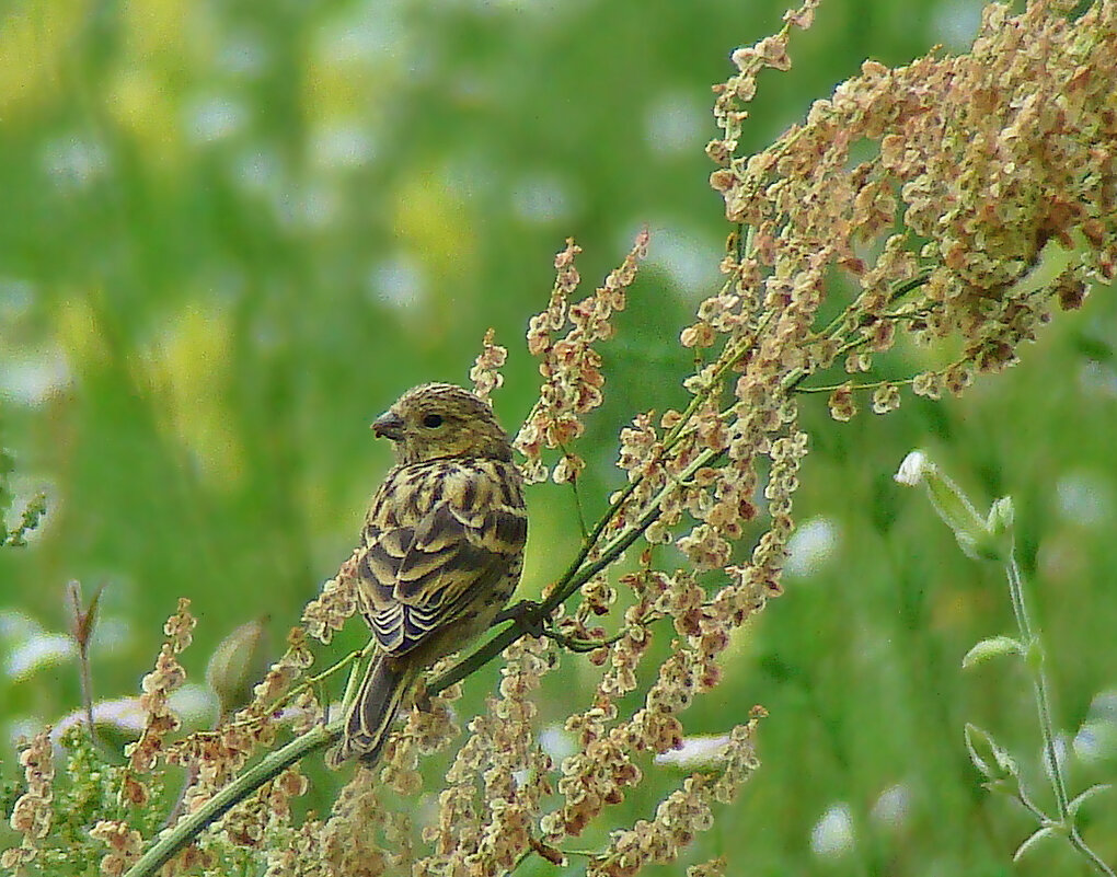
M372 431L392 440L401 464L439 457L512 459L508 436L493 409L452 383L411 388L376 418Z

